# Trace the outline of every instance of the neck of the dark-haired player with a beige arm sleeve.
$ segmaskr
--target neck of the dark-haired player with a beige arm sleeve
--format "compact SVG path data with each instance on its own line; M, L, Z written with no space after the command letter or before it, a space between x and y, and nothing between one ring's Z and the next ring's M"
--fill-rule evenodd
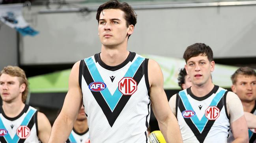
M192 84L191 92L194 94L194 96L203 97L211 92L211 90L213 90L213 87L214 84L211 82L211 80L209 80L200 86Z

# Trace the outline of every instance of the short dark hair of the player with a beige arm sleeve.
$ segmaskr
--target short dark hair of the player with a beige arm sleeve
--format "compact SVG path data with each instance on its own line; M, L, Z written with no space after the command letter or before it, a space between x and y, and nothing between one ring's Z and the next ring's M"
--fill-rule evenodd
M211 47L204 43L194 43L187 47L183 54L183 58L187 63L187 60L198 55L207 56L210 62L213 61L213 51L211 50Z

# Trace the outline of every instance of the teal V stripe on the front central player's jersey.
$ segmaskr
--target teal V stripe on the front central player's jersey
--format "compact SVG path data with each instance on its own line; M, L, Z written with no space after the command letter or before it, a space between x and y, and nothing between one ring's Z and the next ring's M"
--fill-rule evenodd
M135 72L138 70L140 64L144 60L145 60L145 58L142 58L142 57L136 58L135 62L132 63L132 65L129 67L129 69L125 73L124 77L133 77L135 75ZM86 65L88 66L88 69L90 71L90 74L92 75L93 80L104 82L101 75L99 74L99 71L98 71L92 57L84 59L84 62L86 62ZM100 91L100 92L101 92L103 98L105 99L105 101L107 102L108 107L113 112L118 101L120 100L120 98L122 96L122 93L118 90L118 87L116 88L116 91L114 92L113 95L108 90L108 87L105 90Z

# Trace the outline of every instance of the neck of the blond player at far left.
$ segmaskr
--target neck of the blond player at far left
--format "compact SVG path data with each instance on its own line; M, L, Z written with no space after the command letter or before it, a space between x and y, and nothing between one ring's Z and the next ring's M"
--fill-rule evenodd
M6 114L9 118L14 118L18 116L21 111L24 109L25 104L22 101L16 101L16 102L3 102L3 110L4 114Z

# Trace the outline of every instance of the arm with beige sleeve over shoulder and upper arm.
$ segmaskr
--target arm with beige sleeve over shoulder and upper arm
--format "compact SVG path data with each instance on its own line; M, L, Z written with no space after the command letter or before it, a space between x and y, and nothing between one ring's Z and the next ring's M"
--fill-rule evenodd
M226 105L229 109L230 124L235 140L232 143L248 143L248 127L245 120L243 105L234 92L228 92Z

